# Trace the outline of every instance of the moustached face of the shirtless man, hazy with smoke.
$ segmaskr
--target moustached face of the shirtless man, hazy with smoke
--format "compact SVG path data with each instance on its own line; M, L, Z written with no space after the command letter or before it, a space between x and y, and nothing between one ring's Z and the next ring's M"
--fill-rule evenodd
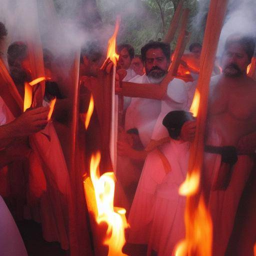
M225 76L237 77L246 72L248 55L238 43L232 43L224 51L221 66Z

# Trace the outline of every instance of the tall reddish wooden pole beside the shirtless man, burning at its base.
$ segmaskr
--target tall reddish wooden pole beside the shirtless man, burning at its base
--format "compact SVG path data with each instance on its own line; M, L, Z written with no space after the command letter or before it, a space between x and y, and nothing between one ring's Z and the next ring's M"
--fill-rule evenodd
M228 0L211 0L206 28L204 33L201 57L200 57L200 72L197 83L197 89L200 92L200 103L198 116L196 119L196 132L193 143L190 146L190 157L188 162L187 176L193 173L200 174L203 163L203 146L204 146L204 135L207 117L207 106L208 106L208 90L210 77L214 65L216 49L218 40L223 24L224 15L226 12ZM201 186L198 192L194 195L188 195L186 199L185 209L185 224L186 224L186 240L194 241L196 237L196 228L198 223L195 221L195 216L199 211L199 202L202 200ZM205 209L206 210L206 209ZM210 225L211 223L209 223ZM200 227L199 227L200 228ZM211 233L207 234L211 236ZM202 254L202 244L192 244L188 248L187 255L211 255L211 240L207 244L207 253ZM205 248L205 247L204 247Z

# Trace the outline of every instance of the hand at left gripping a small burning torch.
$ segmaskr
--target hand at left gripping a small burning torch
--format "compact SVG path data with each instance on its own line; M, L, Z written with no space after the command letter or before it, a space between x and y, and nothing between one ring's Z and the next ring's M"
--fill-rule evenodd
M46 126L48 112L49 107L43 106L27 109L11 122L13 133L16 136L28 136L38 132Z

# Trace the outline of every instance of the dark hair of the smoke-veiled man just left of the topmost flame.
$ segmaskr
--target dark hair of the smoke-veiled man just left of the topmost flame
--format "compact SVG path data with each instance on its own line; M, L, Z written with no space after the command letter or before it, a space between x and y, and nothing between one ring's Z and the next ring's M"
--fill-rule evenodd
M83 62L82 57L86 56L91 61L97 61L102 57L102 48L96 41L87 42L84 47L81 48L80 62Z

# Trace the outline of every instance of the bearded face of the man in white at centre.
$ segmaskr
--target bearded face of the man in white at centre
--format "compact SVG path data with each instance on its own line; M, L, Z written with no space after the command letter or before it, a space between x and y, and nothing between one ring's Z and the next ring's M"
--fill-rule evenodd
M156 79L161 78L167 73L168 66L169 60L161 48L151 48L146 51L145 69L147 76Z

